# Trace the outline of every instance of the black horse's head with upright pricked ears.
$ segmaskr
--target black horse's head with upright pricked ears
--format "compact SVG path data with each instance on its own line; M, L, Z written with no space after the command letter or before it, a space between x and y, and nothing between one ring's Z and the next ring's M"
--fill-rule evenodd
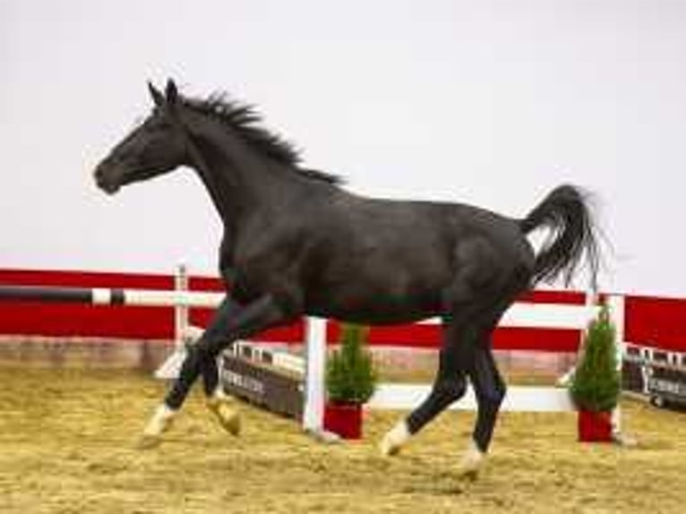
M122 185L159 176L185 164L187 145L178 121L180 100L176 85L167 82L165 94L150 83L155 102L152 114L104 158L95 170L95 181L106 193Z

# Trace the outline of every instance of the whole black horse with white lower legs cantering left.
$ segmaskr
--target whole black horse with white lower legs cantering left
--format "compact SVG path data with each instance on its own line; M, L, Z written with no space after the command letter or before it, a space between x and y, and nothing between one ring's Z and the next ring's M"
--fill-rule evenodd
M216 357L238 338L303 314L365 324L440 316L443 342L431 394L382 441L392 454L460 398L476 392L473 441L463 461L476 472L493 435L505 385L490 347L502 313L522 292L587 264L593 285L596 230L579 189L562 185L526 218L459 203L364 198L338 176L299 166L298 152L264 129L252 107L223 96L189 99L173 81L155 107L95 171L124 184L192 167L224 223L219 271L227 296L192 347L180 376L144 431L159 442L202 375L209 406L227 430L237 417L218 394ZM547 227L536 255L527 234Z

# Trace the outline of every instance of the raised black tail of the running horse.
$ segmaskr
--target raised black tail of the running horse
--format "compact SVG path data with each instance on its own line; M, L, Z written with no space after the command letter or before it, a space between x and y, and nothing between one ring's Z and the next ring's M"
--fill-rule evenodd
M579 265L587 263L590 285L597 289L600 263L596 226L584 193L572 185L561 185L519 221L525 234L538 227L550 229L543 249L536 256L532 285L562 275L569 286Z

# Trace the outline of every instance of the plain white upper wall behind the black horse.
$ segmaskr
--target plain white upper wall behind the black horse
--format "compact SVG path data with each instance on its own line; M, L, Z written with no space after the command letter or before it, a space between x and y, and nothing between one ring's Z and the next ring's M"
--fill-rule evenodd
M686 1L0 0L0 267L214 273L188 170L92 167L145 81L227 90L351 190L522 217L595 191L605 290L686 296Z

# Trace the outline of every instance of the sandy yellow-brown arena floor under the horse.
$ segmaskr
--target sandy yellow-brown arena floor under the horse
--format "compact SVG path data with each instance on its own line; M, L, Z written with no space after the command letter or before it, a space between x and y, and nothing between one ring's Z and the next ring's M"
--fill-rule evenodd
M476 482L455 470L473 415L442 415L396 458L324 446L242 405L222 433L200 396L156 450L134 443L165 386L125 370L0 369L0 512L683 512L686 414L625 400L637 448L582 445L573 414L504 414Z

